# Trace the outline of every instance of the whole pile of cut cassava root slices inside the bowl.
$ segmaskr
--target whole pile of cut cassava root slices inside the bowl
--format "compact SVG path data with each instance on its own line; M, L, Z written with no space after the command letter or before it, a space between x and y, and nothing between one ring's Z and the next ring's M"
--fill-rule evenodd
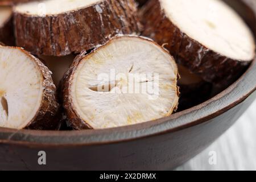
M0 127L154 122L227 88L255 57L221 0L1 0Z

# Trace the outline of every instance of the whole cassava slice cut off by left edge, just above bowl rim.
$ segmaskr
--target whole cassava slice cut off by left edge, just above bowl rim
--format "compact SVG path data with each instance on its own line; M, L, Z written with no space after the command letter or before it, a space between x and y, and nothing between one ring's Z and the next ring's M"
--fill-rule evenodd
M55 130L56 87L44 64L21 48L0 46L0 127Z

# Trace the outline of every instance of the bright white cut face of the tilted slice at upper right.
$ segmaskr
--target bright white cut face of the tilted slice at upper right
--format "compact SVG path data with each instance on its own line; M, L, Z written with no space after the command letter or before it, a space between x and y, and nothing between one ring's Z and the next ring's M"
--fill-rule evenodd
M159 0L168 18L185 34L235 60L255 56L254 36L242 18L220 0Z

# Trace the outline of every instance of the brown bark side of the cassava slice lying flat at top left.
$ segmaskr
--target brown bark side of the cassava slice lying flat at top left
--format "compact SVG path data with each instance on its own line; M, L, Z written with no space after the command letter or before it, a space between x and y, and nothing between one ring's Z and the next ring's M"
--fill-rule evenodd
M35 55L65 56L141 31L134 0L105 0L59 15L14 13L17 46Z

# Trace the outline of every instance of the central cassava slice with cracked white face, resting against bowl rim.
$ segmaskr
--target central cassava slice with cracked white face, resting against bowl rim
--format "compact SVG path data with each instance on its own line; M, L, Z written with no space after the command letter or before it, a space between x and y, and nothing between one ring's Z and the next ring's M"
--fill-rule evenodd
M76 58L63 81L63 105L75 129L133 125L171 115L176 84L177 65L165 49L118 36Z

